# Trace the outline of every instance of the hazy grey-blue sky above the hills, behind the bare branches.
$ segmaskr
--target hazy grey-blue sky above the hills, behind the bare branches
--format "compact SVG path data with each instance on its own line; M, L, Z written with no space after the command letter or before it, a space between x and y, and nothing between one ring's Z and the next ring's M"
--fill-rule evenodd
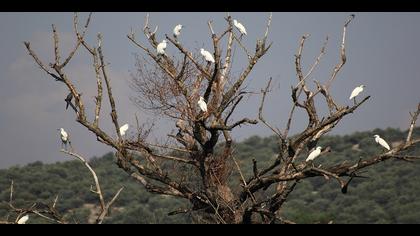
M303 55L303 67L307 71L318 55L324 39L329 35L326 55L311 79L326 81L339 59L342 26L350 13L274 13L269 40L273 46L260 60L246 83L248 90L259 91L269 77L273 77L274 89L267 98L267 120L283 128L290 109L290 86L296 82L294 54L302 34L309 33ZM367 87L363 95L372 98L346 117L333 132L335 134L373 128L396 127L405 129L408 112L420 102L420 13L355 13L356 18L348 27L346 45L347 63L332 86L332 94L340 104L351 104L351 90L360 84ZM103 48L110 63L113 91L117 97L120 123L134 127L137 114L147 116L129 100L134 95L129 88L130 71L134 71L133 53L142 53L133 46L126 35L133 28L141 38L145 13L94 13L88 31L88 41L94 42L97 32L103 34ZM232 13L247 28L244 44L254 50L255 40L264 32L267 13ZM71 110L65 110L67 92L63 84L54 82L41 71L26 52L23 41L30 41L32 48L46 61L53 59L51 24L60 33L65 56L74 44L72 13L0 13L0 168L24 164L36 160L55 162L67 157L59 152L57 128L69 131L76 150L87 156L102 155L110 151L99 144L88 130L75 121ZM81 13L83 20L87 16ZM171 33L177 23L186 27L181 42L194 51L201 47L211 48L207 21L213 20L215 30L225 26L225 13L151 13L151 23L159 25L158 39ZM82 25L81 23L80 25ZM244 67L244 55L237 50L233 72ZM168 53L178 54L172 45ZM90 68L91 61L85 53L79 53L68 65L66 72L74 78L83 97L90 103L95 95L95 80ZM312 82L310 82L312 84ZM259 97L251 97L239 107L236 118L256 117ZM109 125L109 109L102 111L105 130ZM150 119L150 117L149 117ZM307 122L304 113L297 113L293 131L301 130ZM158 121L159 128L153 134L161 137L174 124ZM234 137L241 140L251 134L270 135L262 125L242 126Z

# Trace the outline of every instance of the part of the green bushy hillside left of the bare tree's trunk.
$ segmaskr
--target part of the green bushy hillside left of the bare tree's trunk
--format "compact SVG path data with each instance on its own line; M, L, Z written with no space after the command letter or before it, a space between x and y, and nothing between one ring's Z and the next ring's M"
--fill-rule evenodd
M115 165L112 154L91 159L92 168L98 174L106 201L111 200L124 186L110 217L104 223L187 223L188 216L167 216L167 213L185 207L179 199L158 196L146 192L124 171ZM50 204L59 196L57 209L69 222L88 223L96 216L97 195L90 192L94 181L79 161L55 164L35 162L24 167L0 170L0 219L9 214L10 182L14 180L14 205L30 207L33 202ZM92 212L91 212L92 211ZM13 217L14 215L12 215ZM14 218L11 218L14 219ZM40 217L31 217L29 223L48 223Z

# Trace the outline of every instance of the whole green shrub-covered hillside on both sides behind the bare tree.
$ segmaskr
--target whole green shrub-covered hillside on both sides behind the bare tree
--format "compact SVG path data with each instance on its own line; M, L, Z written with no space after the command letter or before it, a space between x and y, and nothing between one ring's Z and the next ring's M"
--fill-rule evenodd
M379 134L393 146L404 140L406 132L376 129L344 136L325 136L319 145L330 146L333 151L316 159L315 164L327 166L343 160L357 162L359 158L381 153L383 149L374 142L374 134ZM419 136L420 128L417 128L414 137ZM275 158L276 149L273 137L252 136L237 143L236 158L245 178L252 175L253 158L258 161L259 168L263 168ZM420 155L420 148L412 153ZM302 156L301 160L304 158ZM187 207L187 201L146 192L114 162L112 154L91 159L106 200L112 198L121 186L125 187L104 223L193 222L189 214L167 215ZM239 174L234 171L232 175L232 185L239 187ZM420 161L390 160L368 168L363 175L369 178L354 179L347 194L341 193L335 180L318 177L301 181L281 214L297 223L420 223ZM35 162L0 170L0 220L6 219L10 213L7 201L12 179L15 183L14 203L18 207L29 207L33 202L48 204L58 194L57 208L67 220L86 223L93 218L97 196L90 192L93 182L89 172L78 161ZM36 216L28 221L44 222Z

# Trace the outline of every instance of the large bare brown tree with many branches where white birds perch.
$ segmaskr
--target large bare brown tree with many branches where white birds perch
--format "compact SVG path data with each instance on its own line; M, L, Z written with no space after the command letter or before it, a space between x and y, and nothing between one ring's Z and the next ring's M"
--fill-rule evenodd
M350 181L360 177L359 171L368 166L389 159L411 161L418 158L407 155L405 151L420 142L419 138L412 137L420 113L420 104L412 114L406 140L387 152L365 157L356 163L343 161L322 168L299 158L312 151L323 135L370 98L367 96L352 106L343 106L338 104L330 93L332 83L346 63L346 31L353 18L354 15L351 15L344 24L340 58L331 76L325 84L313 80L316 84L316 89L313 90L308 87L308 81L325 54L328 38L309 71L304 73L301 66L302 55L309 35L302 36L295 56L297 82L291 88L293 106L285 128L280 130L271 125L263 115L264 101L270 91L271 79L267 87L261 90L258 115L254 119L244 117L232 120L232 114L236 112L247 94L244 82L254 66L270 49L268 36L272 14L264 26L265 33L256 40L255 50L250 50L242 44L242 36L238 36L229 14L225 17L226 28L220 33L214 31L212 21L207 22L215 63L206 62L201 55L191 51L178 38L170 35L165 35L165 39L182 56L177 58L167 53L158 54L156 52L159 44L156 37L158 27L153 29L149 25L147 14L142 32L146 45L136 38L134 31L127 35L128 39L143 52L142 56L137 57L138 70L133 75L132 85L138 92L138 97L135 98L137 105L171 120L178 129L177 134L168 134L169 141L165 143L148 141L150 128L139 124L135 138L124 139L121 136L116 98L112 93L111 78L107 73L108 65L104 59L102 37L100 34L97 35L95 45L89 45L85 41L90 16L83 31L80 32L77 14L74 15L77 40L74 49L64 59L60 54L59 36L53 26L55 60L49 66L38 58L29 42L25 42L25 46L42 70L55 80L63 82L68 88L74 98L76 121L94 133L99 142L115 149L119 168L149 192L184 198L191 203L188 209L179 209L169 213L170 215L194 213L200 216L203 222L211 223L293 223L283 219L279 215L279 210L300 180L315 177L334 180L339 183L342 192L346 193ZM231 73L236 47L243 50L247 57L247 64L237 76ZM64 71L78 50L83 50L91 56L92 69L96 74L94 78L97 82L96 105L91 111L94 114L93 120L87 119L82 91L76 88L74 79ZM197 105L200 96L208 106L206 112L200 110ZM103 115L101 108L104 99L108 100L111 107L110 115L115 133L106 133L99 125L100 117ZM326 103L328 114L319 112L315 99ZM289 136L297 109L302 109L306 113L308 125L298 134ZM231 134L241 125L257 124L259 121L275 134L279 151L269 166L259 166L256 160L249 160L253 162L253 176L246 179L235 159ZM334 151L334 147L324 148L321 155L330 151ZM241 177L239 189L235 189L231 184L233 172L238 172ZM270 194L263 194L268 193L269 189L273 190Z

